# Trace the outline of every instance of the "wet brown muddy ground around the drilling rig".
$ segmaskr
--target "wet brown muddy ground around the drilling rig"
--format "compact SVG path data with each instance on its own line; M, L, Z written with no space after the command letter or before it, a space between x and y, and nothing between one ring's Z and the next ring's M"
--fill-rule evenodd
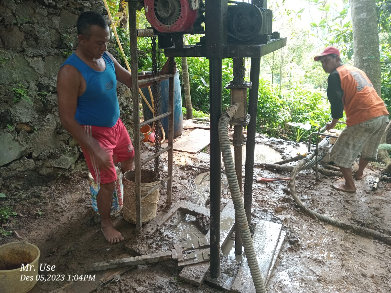
M267 139L258 136L257 145L268 145L271 150L259 160L278 152L282 157L295 155L303 145ZM265 148L265 147L262 147ZM144 147L143 156L152 154L151 147ZM266 150L262 150L265 154ZM162 160L164 173L167 164ZM190 166L208 167L209 155L174 152L173 201L186 200L194 204L199 200L194 179L206 170ZM271 161L273 162L273 160ZM319 213L353 222L391 235L391 184L381 182L377 191L371 191L375 174L381 170L370 163L367 177L356 182L357 193L344 193L332 189L339 177L319 174L313 170L298 174L297 190L301 200ZM149 164L152 168L152 164ZM99 226L99 218L90 206L88 171L83 160L75 170L59 175L50 181L36 173L20 174L8 182L7 198L0 202L18 213L9 221L21 239L14 233L0 238L0 244L27 241L41 251L39 263L55 265L56 274L74 275L85 272L86 264L120 258L129 254L128 243L142 245L143 241L158 243L161 251L169 250L178 239L186 239L187 231L178 231L174 219L165 225L154 238L145 238L135 231L135 225L123 218L114 220L118 230L126 238L119 244L107 243ZM271 172L261 167L254 169L255 176L289 177L289 173ZM253 187L252 221L260 219L281 223L287 232L274 273L267 285L268 292L376 292L391 291L391 247L377 239L353 234L320 222L303 213L290 196L287 180L255 183ZM225 184L223 185L223 187ZM161 191L158 211L165 208L166 192ZM225 188L222 191L222 207L230 199ZM12 218L11 218L12 219ZM180 230L180 229L179 229ZM184 234L183 234L184 233ZM152 239L152 240L151 240ZM222 271L234 270L229 257L222 258ZM180 270L173 261L141 265L109 283L100 292L222 292L207 285L192 286L179 281ZM79 281L80 282L80 281ZM39 281L30 291L49 293L67 284L67 281ZM79 290L83 293L83 289ZM87 291L86 291L87 292Z

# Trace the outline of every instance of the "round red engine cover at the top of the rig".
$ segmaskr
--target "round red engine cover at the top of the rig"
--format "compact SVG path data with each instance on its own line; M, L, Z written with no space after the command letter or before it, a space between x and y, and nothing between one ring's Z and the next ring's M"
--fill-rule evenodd
M185 32L197 18L188 0L145 0L145 16L159 32Z

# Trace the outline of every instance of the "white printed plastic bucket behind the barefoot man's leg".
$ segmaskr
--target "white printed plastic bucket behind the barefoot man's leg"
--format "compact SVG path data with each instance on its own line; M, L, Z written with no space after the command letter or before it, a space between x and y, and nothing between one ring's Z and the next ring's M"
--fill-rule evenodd
M124 200L122 196L124 194L124 184L122 184L122 172L121 169L117 166L115 167L115 170L117 171L117 180L115 180L113 201L111 202L111 216L119 216L122 212L122 207L124 206ZM88 173L88 179L90 180L91 206L93 211L99 214L97 205L97 194L100 189L100 184L95 182L91 173Z

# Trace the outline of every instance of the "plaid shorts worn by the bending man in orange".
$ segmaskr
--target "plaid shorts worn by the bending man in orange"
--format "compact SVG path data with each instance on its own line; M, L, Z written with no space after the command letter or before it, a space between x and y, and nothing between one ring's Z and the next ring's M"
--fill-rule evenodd
M353 126L347 126L330 150L330 159L340 167L350 168L361 152L361 158L377 161L380 139L388 125L388 115L378 116Z

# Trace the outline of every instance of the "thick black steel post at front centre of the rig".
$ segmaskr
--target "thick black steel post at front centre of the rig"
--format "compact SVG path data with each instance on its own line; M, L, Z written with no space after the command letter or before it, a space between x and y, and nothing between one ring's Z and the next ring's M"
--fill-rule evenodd
M220 182L222 58L227 46L227 0L205 1L205 45L210 84L210 276L220 276Z

